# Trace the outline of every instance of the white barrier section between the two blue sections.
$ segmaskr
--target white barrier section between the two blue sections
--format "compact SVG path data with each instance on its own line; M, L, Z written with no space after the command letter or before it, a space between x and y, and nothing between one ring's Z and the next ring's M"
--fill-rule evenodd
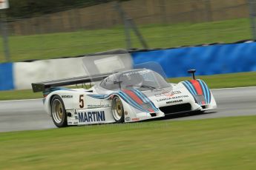
M117 58L117 60L114 60L113 57ZM110 59L108 60L108 58ZM83 61L86 62L85 67L89 72L85 72L85 68L82 63ZM111 64L108 61L111 61ZM93 66L93 64L100 65ZM110 72L113 71L114 68L120 69L121 67L118 67L118 65L122 65L122 67L124 66L124 69L131 69L131 55L97 55L80 58L60 58L33 62L17 62L13 64L13 81L15 89L31 89L31 83Z

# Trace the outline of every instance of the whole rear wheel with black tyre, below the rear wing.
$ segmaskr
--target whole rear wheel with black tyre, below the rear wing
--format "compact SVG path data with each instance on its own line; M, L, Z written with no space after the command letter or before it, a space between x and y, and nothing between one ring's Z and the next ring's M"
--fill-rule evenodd
M59 97L59 95L54 95L51 102L51 115L53 118L53 123L57 127L65 127L68 126L67 123L67 113L65 110L64 103L62 101L62 98Z

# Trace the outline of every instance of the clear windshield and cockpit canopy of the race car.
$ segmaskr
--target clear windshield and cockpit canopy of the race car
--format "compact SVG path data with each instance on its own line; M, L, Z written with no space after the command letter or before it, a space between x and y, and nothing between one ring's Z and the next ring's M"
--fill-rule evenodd
M105 78L100 86L105 89L159 89L169 87L165 79L150 69L137 69L128 72L119 72Z

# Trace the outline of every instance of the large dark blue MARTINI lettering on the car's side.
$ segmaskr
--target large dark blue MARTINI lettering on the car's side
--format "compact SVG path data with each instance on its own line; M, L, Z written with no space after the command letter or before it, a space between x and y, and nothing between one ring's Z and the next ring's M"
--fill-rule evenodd
M79 122L101 122L105 121L105 112L78 112Z

